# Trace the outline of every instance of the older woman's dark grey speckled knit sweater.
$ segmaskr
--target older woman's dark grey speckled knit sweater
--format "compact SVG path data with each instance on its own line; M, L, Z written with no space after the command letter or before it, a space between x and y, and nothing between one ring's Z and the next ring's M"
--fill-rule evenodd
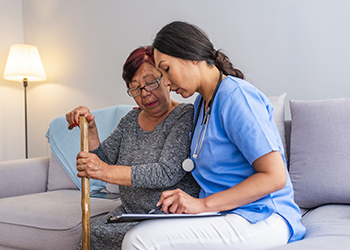
M140 112L130 111L92 151L110 165L131 166L132 187L119 188L126 212L147 213L165 190L180 188L198 197L198 184L181 165L188 154L193 105L179 104L150 132L139 126Z

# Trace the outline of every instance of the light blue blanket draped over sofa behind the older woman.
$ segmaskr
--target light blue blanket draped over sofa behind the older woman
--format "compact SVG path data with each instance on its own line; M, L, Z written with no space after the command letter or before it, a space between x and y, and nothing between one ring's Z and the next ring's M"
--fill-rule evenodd
M120 119L126 115L133 106L116 105L96 111L95 116L97 130L100 140L106 139L116 128ZM50 123L46 133L50 143L51 152L72 181L81 189L81 180L77 177L76 156L80 152L80 130L75 128L68 130L68 123L65 116L57 117ZM106 188L106 183L100 180L90 179L90 192L95 193Z

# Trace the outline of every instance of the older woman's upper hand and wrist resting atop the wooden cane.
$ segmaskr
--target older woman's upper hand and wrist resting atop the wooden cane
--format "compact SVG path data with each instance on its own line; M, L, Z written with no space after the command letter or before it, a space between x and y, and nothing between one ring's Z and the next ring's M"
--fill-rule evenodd
M79 116L85 116L89 124L89 150L95 150L100 146L100 139L95 123L95 117L87 107L79 106L66 114L68 124L74 128L79 123Z

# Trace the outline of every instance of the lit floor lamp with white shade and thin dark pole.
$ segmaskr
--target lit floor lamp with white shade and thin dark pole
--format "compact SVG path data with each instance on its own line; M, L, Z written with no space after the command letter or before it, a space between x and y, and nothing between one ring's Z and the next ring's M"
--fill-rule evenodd
M38 49L33 45L14 44L10 48L4 72L4 78L10 81L23 82L24 119L25 119L25 153L28 158L27 134L27 86L28 82L46 80L43 64Z

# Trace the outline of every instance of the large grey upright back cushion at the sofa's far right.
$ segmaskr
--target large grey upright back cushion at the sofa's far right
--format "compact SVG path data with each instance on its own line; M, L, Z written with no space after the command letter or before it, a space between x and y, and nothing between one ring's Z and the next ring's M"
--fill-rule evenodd
M290 176L295 201L350 203L350 99L290 101Z

